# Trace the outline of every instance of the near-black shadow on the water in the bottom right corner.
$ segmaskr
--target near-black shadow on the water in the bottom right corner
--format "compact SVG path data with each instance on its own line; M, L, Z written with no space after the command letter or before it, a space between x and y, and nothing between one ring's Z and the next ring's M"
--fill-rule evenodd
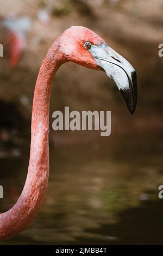
M130 208L118 214L117 224L102 224L100 229L86 230L103 237L104 245L162 245L163 200L142 202L137 208ZM99 244L99 240L78 238L79 243ZM78 243L77 243L78 244Z

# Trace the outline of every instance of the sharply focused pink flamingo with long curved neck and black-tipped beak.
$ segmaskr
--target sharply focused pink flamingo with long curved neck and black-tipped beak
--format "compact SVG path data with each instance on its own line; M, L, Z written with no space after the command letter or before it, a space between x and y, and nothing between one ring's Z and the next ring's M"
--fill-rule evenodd
M90 29L79 26L66 29L49 48L37 77L27 179L16 204L0 214L1 241L26 229L45 197L49 178L49 101L54 76L66 62L105 71L117 84L130 113L135 111L137 82L133 66Z

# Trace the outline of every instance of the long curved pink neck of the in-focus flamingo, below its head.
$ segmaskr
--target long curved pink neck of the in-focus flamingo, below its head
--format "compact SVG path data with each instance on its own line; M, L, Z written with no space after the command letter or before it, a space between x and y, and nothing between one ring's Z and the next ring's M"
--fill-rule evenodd
M26 183L17 203L0 214L0 241L26 229L41 208L49 177L49 101L52 83L60 65L65 62L54 42L43 60L37 77L32 113L32 138Z

